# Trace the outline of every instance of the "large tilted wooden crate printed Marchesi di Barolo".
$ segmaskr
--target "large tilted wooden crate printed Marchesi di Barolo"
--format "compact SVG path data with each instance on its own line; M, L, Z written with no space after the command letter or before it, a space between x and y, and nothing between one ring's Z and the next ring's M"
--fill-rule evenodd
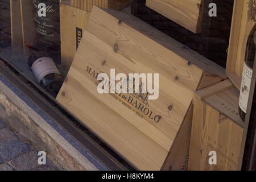
M99 94L97 73L109 75L110 68L159 73L159 98ZM193 92L225 78L225 69L135 16L94 6L56 100L135 168L181 170Z

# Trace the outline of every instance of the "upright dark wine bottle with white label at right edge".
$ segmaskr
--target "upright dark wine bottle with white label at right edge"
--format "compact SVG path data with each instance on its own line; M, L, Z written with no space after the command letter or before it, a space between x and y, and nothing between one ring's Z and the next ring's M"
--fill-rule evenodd
M253 76L253 65L255 62L256 50L256 25L249 34L246 44L245 63L243 65L243 74L239 98L238 112L243 121L245 121L246 109L249 99L251 77Z

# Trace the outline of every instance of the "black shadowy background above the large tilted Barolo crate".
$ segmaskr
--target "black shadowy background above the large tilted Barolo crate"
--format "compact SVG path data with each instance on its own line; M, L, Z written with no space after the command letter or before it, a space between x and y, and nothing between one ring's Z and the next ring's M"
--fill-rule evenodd
M217 5L217 17L211 18L208 15L210 10L208 6L212 2ZM234 0L204 0L201 34L194 34L183 28L172 20L151 10L145 3L146 0L132 0L131 14L204 55L221 67L226 68L228 56L226 51L229 45Z

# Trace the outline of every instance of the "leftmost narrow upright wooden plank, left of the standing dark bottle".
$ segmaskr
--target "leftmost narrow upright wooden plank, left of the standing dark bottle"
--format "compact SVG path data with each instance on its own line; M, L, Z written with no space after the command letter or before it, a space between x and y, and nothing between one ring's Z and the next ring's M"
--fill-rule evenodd
M10 1L11 10L11 47L13 53L20 52L23 49L22 38L22 20L20 18L20 1Z

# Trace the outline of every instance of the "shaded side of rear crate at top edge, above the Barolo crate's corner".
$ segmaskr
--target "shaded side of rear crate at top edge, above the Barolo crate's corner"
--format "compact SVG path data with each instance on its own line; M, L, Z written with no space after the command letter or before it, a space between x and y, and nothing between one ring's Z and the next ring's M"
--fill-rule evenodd
M123 10L130 3L131 0L71 0L71 6L89 12L92 11L93 5L106 9Z

